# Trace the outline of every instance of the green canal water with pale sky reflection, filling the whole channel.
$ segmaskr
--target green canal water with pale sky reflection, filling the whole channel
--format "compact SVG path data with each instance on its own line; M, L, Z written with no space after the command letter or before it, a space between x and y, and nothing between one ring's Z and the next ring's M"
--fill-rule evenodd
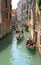
M17 41L16 33L0 39L0 65L41 65L41 57L36 50L26 47L29 32L24 32L24 39Z

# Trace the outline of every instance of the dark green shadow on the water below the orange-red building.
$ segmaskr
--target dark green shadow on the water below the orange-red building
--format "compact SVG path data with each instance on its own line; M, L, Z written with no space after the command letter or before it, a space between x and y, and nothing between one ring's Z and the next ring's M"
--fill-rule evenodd
M12 43L13 33L8 34L0 39L0 52L6 49Z

